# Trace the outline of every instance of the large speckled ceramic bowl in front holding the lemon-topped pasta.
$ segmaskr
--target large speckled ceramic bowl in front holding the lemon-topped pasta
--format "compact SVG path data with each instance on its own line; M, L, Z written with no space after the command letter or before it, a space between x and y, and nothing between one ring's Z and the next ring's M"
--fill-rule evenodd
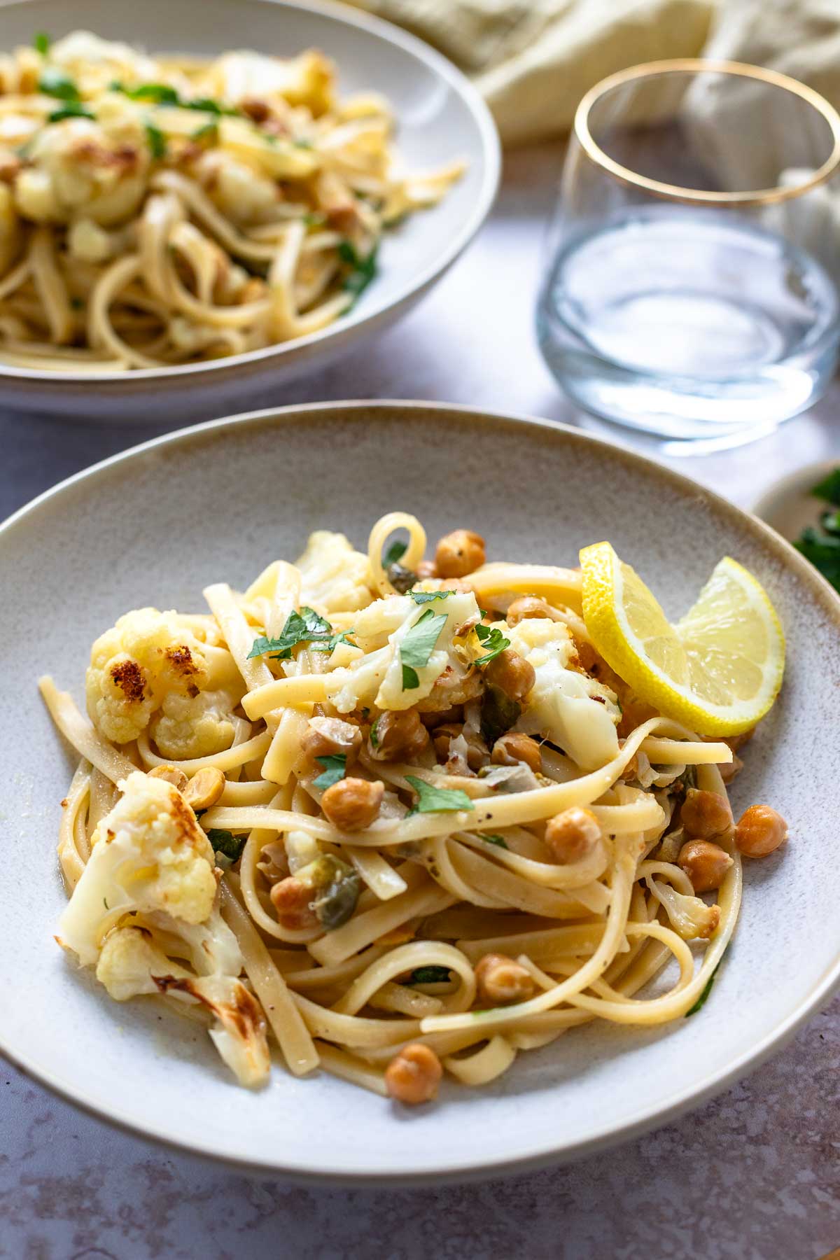
M93 638L127 609L199 610L310 530L364 547L404 508L429 538L480 530L491 557L574 564L610 538L669 615L734 556L785 625L781 699L749 746L735 809L769 801L791 840L748 863L735 940L704 1009L674 1026L593 1024L520 1056L497 1084L445 1085L412 1113L326 1075L277 1067L237 1087L203 1031L118 1005L52 939L72 772L37 692L50 670L82 699ZM307 1178L458 1178L570 1158L673 1118L788 1037L840 976L836 832L840 606L769 529L685 478L573 430L421 403L339 403L217 421L79 474L0 530L0 1048L98 1115L227 1160Z

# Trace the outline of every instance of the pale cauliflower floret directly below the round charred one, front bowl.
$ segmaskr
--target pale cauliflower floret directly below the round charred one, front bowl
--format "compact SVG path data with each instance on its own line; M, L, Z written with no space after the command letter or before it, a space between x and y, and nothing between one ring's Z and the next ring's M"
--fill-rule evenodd
M105 932L123 914L164 912L195 925L215 902L213 848L181 794L139 770L120 788L58 925L62 945L83 966L96 963Z

